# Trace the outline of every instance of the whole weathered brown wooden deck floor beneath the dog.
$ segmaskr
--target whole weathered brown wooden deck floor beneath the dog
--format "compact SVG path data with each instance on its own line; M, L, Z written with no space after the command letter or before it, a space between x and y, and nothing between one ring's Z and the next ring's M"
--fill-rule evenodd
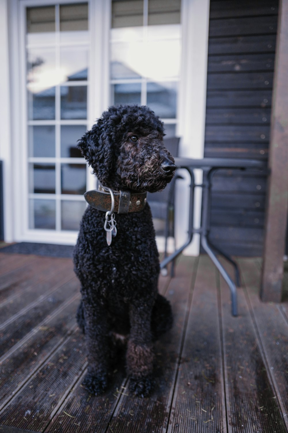
M159 290L174 327L156 346L155 391L123 366L101 397L81 386L85 343L70 259L0 253L0 432L288 431L288 303L258 297L259 259L239 259L239 316L207 256L181 257Z

